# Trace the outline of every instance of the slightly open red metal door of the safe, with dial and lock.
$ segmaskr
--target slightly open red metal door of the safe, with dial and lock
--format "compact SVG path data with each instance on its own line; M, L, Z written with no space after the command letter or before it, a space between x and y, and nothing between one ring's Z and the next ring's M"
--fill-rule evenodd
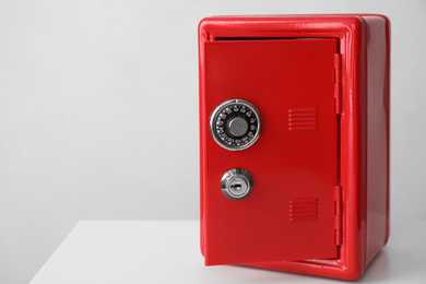
M205 264L336 258L338 40L201 45Z

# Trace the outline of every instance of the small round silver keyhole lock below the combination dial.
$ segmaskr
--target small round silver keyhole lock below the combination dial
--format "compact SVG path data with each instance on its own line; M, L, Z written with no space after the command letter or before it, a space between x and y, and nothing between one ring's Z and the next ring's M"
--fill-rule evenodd
M232 200L240 200L250 194L253 188L253 179L246 169L233 168L223 175L221 179L222 192Z

